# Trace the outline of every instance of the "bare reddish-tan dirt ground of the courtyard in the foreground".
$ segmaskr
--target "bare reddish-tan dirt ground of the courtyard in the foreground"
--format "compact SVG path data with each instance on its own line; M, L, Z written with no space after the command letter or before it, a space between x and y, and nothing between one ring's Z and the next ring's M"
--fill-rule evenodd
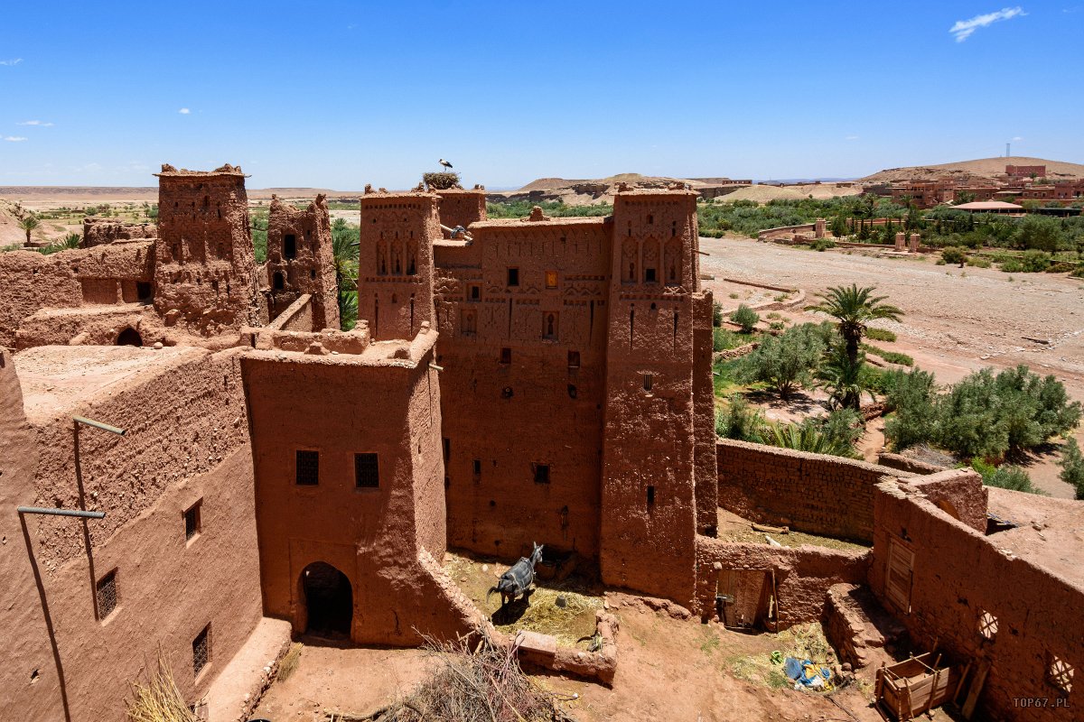
M769 655L773 649L787 654L797 648L800 642L795 631L816 639L815 627L749 635L720 625L674 619L624 594L608 599L621 625L612 687L551 674L534 678L566 699L563 707L579 722L881 719L869 707L872 669L860 673L859 685L831 695L847 711L827 695L796 692L778 683ZM433 664L416 649L346 648L327 646L318 639L305 642L297 670L271 686L254 718L309 722L323 721L331 710L369 713L406 693ZM933 719L949 718L938 711Z

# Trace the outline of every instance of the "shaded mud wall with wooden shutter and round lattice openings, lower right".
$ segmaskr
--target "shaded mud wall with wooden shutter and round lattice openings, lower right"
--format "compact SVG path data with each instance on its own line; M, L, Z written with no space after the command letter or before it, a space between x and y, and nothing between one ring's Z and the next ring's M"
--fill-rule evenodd
M985 537L894 485L879 485L875 503L869 586L913 639L927 645L935 642L957 662L979 658L991 662L979 697L980 717L1048 720L1079 706L1084 629L1075 612L1084 604L1084 589L998 549L996 535ZM886 594L893 546L914 554L909 614ZM997 619L992 640L980 633L984 612ZM1053 656L1076 670L1072 695L1049 682ZM1015 699L1046 704L1021 707Z

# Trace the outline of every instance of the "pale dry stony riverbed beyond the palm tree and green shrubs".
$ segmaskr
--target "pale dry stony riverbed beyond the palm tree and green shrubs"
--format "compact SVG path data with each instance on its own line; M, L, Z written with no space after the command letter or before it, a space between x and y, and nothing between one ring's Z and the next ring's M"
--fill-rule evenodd
M876 345L914 357L938 382L954 383L971 371L1027 364L1053 373L1069 394L1084 401L1084 281L1064 274L1006 274L996 268L935 265L921 257L878 257L842 250L816 252L744 238L701 238L701 273L803 289L809 302L830 286L876 286L903 309L901 323L878 323L895 343ZM705 286L717 289L715 281ZM727 297L718 300L727 304ZM730 301L733 303L733 301ZM788 319L821 320L800 310ZM1045 343L1043 343L1045 342ZM1077 441L1084 432L1077 429ZM864 450L870 445L865 444ZM1058 478L1057 450L1035 456L1025 469L1051 496L1071 498Z

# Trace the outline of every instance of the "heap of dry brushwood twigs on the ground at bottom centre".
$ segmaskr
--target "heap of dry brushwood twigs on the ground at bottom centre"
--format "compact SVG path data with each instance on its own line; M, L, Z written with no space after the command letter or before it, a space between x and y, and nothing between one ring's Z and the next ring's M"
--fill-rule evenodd
M474 651L427 638L439 664L410 694L364 717L328 713L328 722L571 722L558 697L522 672L514 648L479 634Z

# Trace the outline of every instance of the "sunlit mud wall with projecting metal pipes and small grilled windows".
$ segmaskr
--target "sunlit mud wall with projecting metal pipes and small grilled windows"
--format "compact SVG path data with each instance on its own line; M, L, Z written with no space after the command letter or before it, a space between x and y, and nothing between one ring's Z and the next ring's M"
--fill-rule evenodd
M259 620L250 452L243 436L210 443L231 415L243 418L243 407L217 398L202 413L176 418L201 406L198 394L178 393L181 378L198 386L194 377L205 377L216 390L225 378L237 388L238 379L230 380L236 371L205 354L182 368L153 390L106 392L78 408L128 428L124 437L83 428L78 474L70 418L20 420L10 357L0 369L0 604L13 652L0 668L0 718L120 719L129 682L159 647L194 703ZM164 411L149 418L153 408ZM175 444L178 429L185 438ZM197 430L204 444L189 445ZM186 539L184 512L196 503L198 534ZM17 504L85 506L107 515L21 520ZM103 617L95 582L111 572L118 603ZM209 661L196 675L192 643L208 625Z

